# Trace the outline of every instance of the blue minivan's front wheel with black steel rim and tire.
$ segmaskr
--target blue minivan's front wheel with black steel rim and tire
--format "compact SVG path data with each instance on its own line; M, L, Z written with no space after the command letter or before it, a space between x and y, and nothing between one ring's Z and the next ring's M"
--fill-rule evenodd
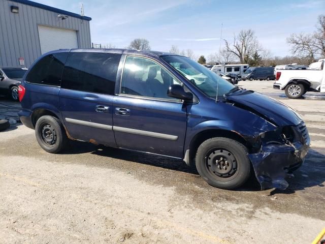
M238 188L250 175L246 147L224 137L208 139L199 146L196 166L209 185L221 189Z

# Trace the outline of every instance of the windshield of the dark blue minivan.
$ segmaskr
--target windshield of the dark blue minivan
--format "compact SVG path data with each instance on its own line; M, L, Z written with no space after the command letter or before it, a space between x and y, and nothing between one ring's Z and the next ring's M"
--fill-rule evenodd
M222 79L219 75L188 57L162 56L161 58L210 98L215 99L217 97L217 90L218 98L221 98L235 87L230 82ZM186 75L187 72L199 74L199 76L196 77L194 75L191 77Z

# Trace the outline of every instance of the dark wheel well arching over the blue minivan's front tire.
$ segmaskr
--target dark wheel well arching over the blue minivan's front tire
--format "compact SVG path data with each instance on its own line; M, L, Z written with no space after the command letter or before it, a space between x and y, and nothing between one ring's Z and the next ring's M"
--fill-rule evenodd
M206 130L203 132L200 132L194 138L192 139L190 145L189 145L189 159L190 164L194 162L194 158L196 157L197 150L199 146L204 142L205 140L208 140L213 137L226 137L233 140L236 140L240 143L242 143L244 146L247 146L246 140L237 132L234 131L226 131L226 130Z

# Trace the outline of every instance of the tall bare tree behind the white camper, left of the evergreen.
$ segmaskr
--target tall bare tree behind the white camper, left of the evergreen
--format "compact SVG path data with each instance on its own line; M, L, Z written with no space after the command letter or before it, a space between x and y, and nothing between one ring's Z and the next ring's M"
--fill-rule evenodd
M251 29L243 29L237 37L234 35L232 44L227 40L224 40L224 43L225 52L231 52L236 55L242 64L245 63L245 60L253 53L262 50L262 47L259 45Z

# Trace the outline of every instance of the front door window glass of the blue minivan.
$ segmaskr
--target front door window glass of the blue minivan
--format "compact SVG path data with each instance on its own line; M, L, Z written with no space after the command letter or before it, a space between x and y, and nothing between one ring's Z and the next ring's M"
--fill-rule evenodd
M191 72L194 71L188 71ZM176 100L167 95L168 87L172 84L181 83L153 61L142 57L126 57L121 94Z

